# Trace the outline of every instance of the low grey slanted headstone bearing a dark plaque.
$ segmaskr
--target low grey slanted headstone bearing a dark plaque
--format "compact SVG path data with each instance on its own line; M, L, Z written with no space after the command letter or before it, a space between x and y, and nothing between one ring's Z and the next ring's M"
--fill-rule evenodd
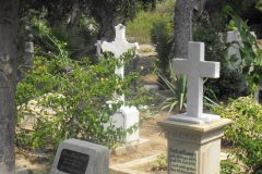
M59 145L51 174L108 174L107 147L78 139Z

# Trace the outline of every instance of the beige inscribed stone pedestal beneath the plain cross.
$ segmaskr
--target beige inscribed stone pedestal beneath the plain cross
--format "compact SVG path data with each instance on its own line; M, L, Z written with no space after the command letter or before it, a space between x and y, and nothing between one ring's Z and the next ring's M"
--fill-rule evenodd
M221 138L230 120L209 124L162 121L168 140L168 174L219 174Z

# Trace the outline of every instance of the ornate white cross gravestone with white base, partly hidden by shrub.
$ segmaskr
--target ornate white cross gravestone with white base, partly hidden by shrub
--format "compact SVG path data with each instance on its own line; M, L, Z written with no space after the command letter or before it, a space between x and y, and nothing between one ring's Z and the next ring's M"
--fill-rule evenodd
M97 53L109 51L114 53L114 55L119 59L124 52L130 49L139 49L139 45L130 44L126 38L126 26L119 24L115 27L116 38L112 42L100 41L96 42ZM115 73L124 78L124 66L116 67ZM124 103L124 96L119 97L121 101ZM109 101L114 102L114 101ZM120 108L119 112L111 116L111 122L117 128L123 128L127 130L128 128L139 125L139 115L140 112L135 107L126 107L124 104ZM107 125L106 125L107 126ZM139 128L133 133L128 133L124 141L132 142L139 140Z

